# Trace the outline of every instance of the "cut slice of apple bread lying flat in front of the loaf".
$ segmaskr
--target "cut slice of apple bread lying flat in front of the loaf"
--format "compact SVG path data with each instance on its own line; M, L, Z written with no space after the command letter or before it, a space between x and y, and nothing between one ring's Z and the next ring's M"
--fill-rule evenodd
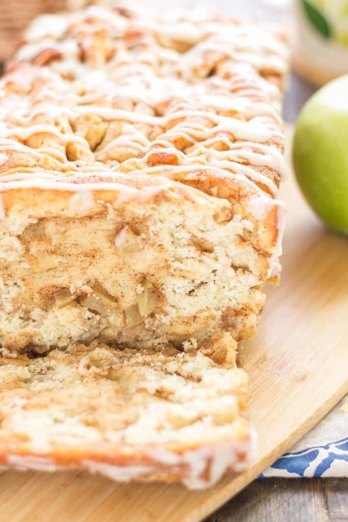
M11 355L0 358L0 467L199 489L248 464L247 379L227 334L199 352L94 342Z

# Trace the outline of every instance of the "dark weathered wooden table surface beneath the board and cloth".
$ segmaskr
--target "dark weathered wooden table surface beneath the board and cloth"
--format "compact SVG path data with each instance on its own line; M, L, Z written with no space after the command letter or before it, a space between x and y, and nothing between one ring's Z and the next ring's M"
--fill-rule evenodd
M314 91L314 86L291 75L286 122L296 121ZM348 478L256 480L206 522L348 522Z

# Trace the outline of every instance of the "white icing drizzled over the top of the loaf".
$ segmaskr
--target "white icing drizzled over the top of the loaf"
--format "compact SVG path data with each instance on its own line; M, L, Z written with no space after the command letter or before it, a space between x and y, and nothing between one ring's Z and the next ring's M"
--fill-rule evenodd
M97 19L95 26L85 23L90 16ZM34 22L27 31L28 43L17 58L31 60L46 49L58 51L61 58L50 64L52 70L26 66L25 80L15 70L0 82L3 120L0 150L4 150L0 167L6 169L8 151L18 150L27 152L34 162L51 157L52 171L43 173L40 163L35 163L37 167L32 171L2 176L0 190L37 186L85 193L94 188L114 189L127 193L127 199L129 187L117 184L118 172L124 169L128 175L134 170L172 179L183 169L187 172L186 180L202 175L198 174L199 169L210 169L215 175L233 176L243 184L250 184L259 194L251 204L254 214L255 205L261 207L261 213L265 212L273 204L272 197L278 191L275 182L286 167L274 145L283 136L279 129L280 91L262 78L259 71L283 74L286 46L255 26L239 25L215 15L177 17L173 23L173 18L153 20L145 13L135 13L127 20L108 9L93 6L73 14L45 17L46 28L40 19ZM100 28L106 31L117 52L109 61L102 58L100 63L93 63L93 31ZM90 45L88 42L92 45L91 61L87 55L85 63L79 59L80 30L91 36L91 40L82 41L83 45ZM127 31L133 30L135 36L128 38ZM63 37L66 31L68 37ZM154 33L159 40L186 42L188 49L181 53L175 48L165 48L153 37ZM89 48L86 49L88 52ZM212 77L200 78L199 71L204 70L209 53L222 57L222 62ZM60 74L73 74L75 80L64 80ZM18 85L18 94L8 94L8 82ZM23 89L26 92L22 93ZM117 105L119 100L121 105ZM158 114L161 103L164 111ZM79 118L90 116L107 125L117 122L119 131L105 143L101 141L92 155L94 163L68 161L69 144L76 144L91 155L87 139L73 131ZM153 128L157 131L151 138L149 133ZM47 140L42 140L35 149L27 146L27 140L35 134L52 136L57 146ZM177 144L183 141L184 148L180 149ZM226 150L219 148L221 143ZM127 149L138 159L119 160L119 151ZM170 161L175 158L177 165L153 167L156 155ZM104 167L99 159L105 163ZM268 173L256 170L254 165L266 167ZM96 167L100 168L98 173ZM269 170L274 173L273 179ZM80 171L85 178L98 175L107 181L84 180L78 185L74 181ZM265 187L272 197L263 192ZM137 192L140 195L141 191ZM278 244L274 251L279 251Z

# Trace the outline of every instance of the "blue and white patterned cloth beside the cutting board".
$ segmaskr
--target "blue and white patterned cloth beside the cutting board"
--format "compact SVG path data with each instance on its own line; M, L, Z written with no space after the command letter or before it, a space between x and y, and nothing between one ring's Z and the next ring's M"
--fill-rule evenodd
M260 477L348 477L348 396Z

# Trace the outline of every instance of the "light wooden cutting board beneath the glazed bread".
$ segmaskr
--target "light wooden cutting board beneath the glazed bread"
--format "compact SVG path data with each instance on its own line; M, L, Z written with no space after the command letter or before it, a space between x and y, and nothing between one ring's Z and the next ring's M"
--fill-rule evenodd
M258 458L208 491L117 484L83 472L0 474L0 520L11 522L197 522L244 488L348 392L348 239L327 231L293 177L283 276L270 287L258 333L241 347L250 375ZM267 480L267 479L266 479Z

